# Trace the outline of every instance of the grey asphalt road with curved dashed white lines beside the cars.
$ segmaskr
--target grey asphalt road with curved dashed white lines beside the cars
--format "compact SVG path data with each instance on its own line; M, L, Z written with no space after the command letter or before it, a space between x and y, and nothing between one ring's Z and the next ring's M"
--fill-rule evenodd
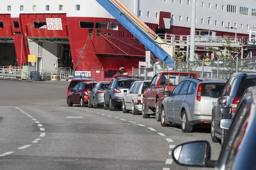
M206 170L172 161L175 145L195 140L218 159L209 128L182 133L154 116L67 107L68 84L0 80L1 170Z

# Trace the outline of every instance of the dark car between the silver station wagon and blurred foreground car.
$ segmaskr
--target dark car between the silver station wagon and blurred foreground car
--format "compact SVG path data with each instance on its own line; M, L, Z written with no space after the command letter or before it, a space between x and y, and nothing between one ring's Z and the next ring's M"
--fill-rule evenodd
M218 94L218 91L210 91L210 97L219 97L218 101L212 107L211 138L213 142L223 144L227 136L227 131L221 129L221 120L230 119L233 116L244 91L253 86L256 86L256 74L234 73L227 80L221 94ZM222 114L221 109L225 107L232 108L232 112L228 115Z

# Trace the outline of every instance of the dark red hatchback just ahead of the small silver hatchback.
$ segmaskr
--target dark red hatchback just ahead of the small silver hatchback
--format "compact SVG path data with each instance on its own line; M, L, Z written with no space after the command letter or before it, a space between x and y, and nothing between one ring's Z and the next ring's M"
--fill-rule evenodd
M80 82L74 88L70 89L67 95L67 105L72 107L73 104L80 104L85 107L88 104L88 94L93 90L96 82Z

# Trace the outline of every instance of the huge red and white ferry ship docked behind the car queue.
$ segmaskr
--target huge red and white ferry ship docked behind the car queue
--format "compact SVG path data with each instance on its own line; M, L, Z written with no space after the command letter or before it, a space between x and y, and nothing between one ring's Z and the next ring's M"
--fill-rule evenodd
M192 0L121 1L156 34L190 34ZM80 56L77 71L131 70L145 61L144 45L96 0L0 4L0 66L27 65L29 54L38 71L73 69ZM196 1L196 35L248 37L255 21L256 0Z

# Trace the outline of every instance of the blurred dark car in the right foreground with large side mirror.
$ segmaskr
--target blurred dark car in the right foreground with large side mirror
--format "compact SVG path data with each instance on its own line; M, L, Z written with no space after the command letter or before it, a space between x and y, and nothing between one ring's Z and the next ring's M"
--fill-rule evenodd
M223 112L232 112L226 107ZM223 119L223 129L230 129L218 161L211 159L207 141L180 144L172 158L182 166L214 167L215 170L256 170L256 89L249 91L239 104L234 119Z

